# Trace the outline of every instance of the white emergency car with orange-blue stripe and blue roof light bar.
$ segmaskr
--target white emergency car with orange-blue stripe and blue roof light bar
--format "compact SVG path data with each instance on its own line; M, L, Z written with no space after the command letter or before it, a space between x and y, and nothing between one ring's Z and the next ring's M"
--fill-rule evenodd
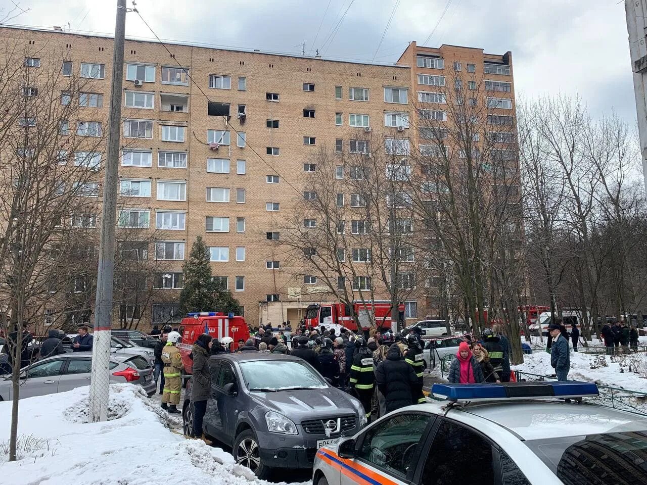
M434 384L316 454L313 485L647 484L647 416L584 382Z

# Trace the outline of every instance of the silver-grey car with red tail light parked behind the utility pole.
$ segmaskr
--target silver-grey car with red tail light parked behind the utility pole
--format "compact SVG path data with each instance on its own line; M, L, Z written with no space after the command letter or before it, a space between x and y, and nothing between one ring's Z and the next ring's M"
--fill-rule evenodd
M20 371L20 398L64 393L76 387L89 385L92 352L61 354L23 367ZM110 356L110 382L129 382L144 387L149 396L155 394L153 369L141 356L113 354ZM0 401L12 398L12 382L8 376L0 378Z

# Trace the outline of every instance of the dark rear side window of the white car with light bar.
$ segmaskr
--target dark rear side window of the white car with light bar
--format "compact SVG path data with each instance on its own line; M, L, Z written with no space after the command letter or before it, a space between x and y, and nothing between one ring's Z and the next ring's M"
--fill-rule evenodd
M459 485L475 476L479 483L495 483L492 465L492 446L485 438L472 429L443 420L424 462L421 483L437 484L443 477L443 485ZM446 470L452 473L446 474Z

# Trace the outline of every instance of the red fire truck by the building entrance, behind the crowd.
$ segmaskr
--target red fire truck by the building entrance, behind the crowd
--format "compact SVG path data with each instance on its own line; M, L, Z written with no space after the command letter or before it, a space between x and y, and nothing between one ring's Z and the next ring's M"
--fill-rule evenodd
M378 329L391 329L391 301L353 301L353 311L358 316L362 330L368 330L373 325ZM404 320L404 304L398 305L400 319ZM345 303L313 303L305 310L303 323L309 329L320 325L338 324L355 332L357 325L351 314L351 308Z

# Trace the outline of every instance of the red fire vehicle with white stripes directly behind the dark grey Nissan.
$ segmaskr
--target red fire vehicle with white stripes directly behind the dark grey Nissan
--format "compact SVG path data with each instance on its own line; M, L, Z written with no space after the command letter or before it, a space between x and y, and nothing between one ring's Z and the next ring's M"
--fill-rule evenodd
M233 313L223 312L195 312L182 318L179 328L182 336L181 343L177 344L182 355L182 363L187 374L193 373L193 360L189 358L193 343L201 334L209 334L213 338L221 340L225 337L234 339L232 350L238 347L240 339L249 338L249 327L245 318L234 316Z

